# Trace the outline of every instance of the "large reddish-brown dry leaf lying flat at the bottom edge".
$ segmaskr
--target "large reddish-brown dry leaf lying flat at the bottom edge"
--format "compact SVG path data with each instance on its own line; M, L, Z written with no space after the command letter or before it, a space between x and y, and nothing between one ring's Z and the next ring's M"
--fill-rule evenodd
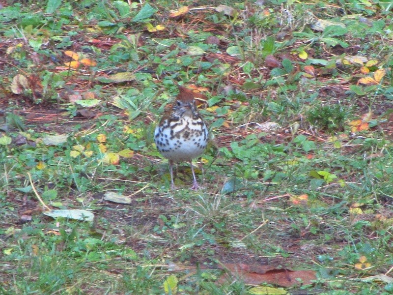
M232 276L242 279L248 285L260 285L263 283L292 287L312 284L316 279L313 270L291 270L286 268L274 268L273 266L246 265L246 264L224 264ZM219 281L228 279L223 275Z

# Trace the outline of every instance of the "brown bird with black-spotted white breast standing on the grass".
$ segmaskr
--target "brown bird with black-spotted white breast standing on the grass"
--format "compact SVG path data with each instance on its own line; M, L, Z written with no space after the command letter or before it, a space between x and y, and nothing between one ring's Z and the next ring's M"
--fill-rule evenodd
M189 162L194 182L191 189L199 189L192 160L200 156L209 141L209 130L195 105L196 93L184 86L178 86L179 94L168 111L164 113L154 130L154 142L158 151L169 161L171 188L173 164Z

